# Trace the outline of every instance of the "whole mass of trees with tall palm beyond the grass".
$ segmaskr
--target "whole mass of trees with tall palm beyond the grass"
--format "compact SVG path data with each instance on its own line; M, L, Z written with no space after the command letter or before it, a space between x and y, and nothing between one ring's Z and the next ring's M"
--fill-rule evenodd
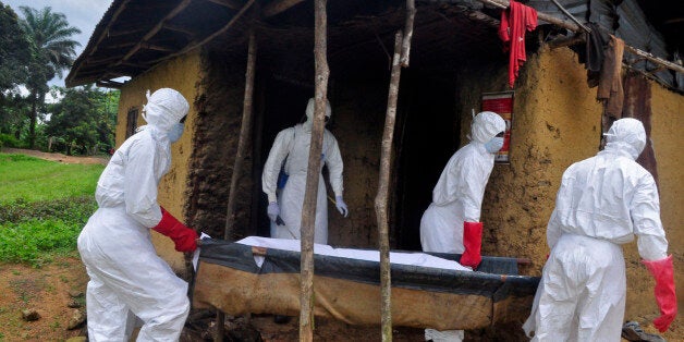
M73 64L78 42L72 36L81 30L49 7L20 7L19 14L0 2L0 146L66 154L113 147L119 91L56 87L58 101L45 103L48 82Z

